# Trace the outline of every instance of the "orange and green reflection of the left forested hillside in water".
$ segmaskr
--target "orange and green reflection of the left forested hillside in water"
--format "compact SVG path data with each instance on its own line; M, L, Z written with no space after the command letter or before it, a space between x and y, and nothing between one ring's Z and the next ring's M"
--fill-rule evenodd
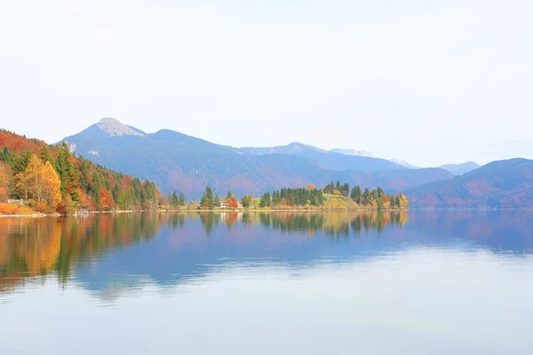
M153 238L160 222L157 214L118 214L0 223L0 290L5 290L49 273L66 283L75 260Z

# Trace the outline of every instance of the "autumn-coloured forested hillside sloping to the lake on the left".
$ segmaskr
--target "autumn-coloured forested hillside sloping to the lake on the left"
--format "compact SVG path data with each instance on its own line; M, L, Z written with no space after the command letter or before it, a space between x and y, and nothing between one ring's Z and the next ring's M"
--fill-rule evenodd
M72 154L66 143L49 146L0 130L0 203L28 201L40 212L78 209L156 209L155 184L107 170Z

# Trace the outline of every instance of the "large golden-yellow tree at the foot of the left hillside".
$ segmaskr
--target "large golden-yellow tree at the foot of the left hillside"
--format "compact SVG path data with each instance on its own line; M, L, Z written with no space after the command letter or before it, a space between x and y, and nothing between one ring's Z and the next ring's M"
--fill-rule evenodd
M60 177L50 162L43 162L32 155L28 168L17 175L20 189L36 201L39 209L57 206L61 201Z

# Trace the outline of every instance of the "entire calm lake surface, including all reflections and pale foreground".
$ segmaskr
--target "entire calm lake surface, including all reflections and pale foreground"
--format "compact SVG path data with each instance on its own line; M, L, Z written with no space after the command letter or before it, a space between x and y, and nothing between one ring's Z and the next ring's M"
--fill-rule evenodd
M531 354L533 213L0 218L0 353Z

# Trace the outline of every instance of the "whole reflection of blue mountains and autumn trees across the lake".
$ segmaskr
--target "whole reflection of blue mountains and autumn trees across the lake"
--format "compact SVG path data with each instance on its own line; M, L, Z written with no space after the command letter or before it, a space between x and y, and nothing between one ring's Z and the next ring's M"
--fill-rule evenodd
M53 276L62 287L76 282L105 296L142 280L175 285L235 263L307 267L405 248L523 255L533 248L532 226L531 214L523 211L0 218L0 291Z

